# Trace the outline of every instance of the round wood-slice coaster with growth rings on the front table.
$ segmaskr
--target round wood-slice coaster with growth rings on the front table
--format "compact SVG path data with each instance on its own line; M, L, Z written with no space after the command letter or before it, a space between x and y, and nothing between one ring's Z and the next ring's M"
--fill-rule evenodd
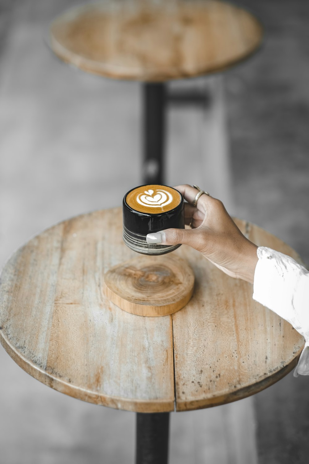
M182 309L193 294L194 273L181 258L139 256L104 275L104 293L137 316L167 316Z

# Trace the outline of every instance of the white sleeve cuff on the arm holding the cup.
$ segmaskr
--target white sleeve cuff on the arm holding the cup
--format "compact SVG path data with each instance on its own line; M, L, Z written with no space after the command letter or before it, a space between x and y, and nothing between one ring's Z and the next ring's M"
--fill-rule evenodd
M309 272L293 258L260 246L254 273L253 299L290 322L305 338L294 371L309 375Z

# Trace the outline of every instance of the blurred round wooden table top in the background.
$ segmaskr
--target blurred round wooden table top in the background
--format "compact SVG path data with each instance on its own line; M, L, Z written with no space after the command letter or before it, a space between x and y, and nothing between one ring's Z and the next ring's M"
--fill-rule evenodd
M166 81L221 71L261 44L263 27L218 0L105 1L77 7L50 27L64 61L106 77Z

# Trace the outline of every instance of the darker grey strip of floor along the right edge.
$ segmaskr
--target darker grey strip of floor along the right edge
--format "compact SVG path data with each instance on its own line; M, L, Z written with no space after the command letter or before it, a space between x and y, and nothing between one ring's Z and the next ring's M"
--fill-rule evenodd
M309 4L242 1L263 19L266 40L226 75L238 214L276 234L309 264ZM308 378L292 374L255 395L260 463L305 463Z

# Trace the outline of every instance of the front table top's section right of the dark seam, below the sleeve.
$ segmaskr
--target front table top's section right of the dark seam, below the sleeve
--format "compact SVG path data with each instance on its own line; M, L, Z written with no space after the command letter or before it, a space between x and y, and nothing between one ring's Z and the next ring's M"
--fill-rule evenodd
M260 246L300 257L263 229L235 220ZM177 411L217 406L258 393L296 366L304 340L252 300L252 285L223 274L194 250L182 250L195 271L195 292L173 315Z

